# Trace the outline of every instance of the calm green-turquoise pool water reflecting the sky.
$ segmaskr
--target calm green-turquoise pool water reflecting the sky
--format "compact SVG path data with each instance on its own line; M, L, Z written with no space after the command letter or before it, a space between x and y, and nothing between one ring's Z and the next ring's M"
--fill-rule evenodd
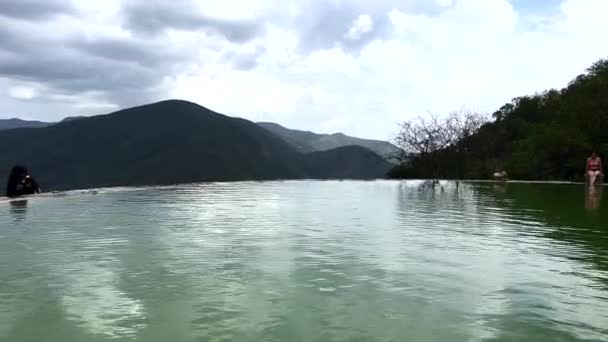
M267 182L0 202L0 341L608 341L582 185Z

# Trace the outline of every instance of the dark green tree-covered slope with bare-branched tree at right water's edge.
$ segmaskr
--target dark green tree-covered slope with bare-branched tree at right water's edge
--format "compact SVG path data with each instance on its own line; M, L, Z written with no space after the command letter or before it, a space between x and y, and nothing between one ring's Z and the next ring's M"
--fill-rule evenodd
M492 116L403 123L397 145L410 154L389 177L483 179L505 169L517 179L582 180L592 150L608 156L608 60L566 88L515 98Z

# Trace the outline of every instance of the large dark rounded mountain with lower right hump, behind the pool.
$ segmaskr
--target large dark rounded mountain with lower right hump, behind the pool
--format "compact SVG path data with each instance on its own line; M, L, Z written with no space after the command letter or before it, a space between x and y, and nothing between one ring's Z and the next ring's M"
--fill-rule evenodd
M16 124L23 127L23 122ZM0 173L8 174L16 163L25 164L47 190L198 181L372 179L383 178L391 167L362 146L306 153L251 121L181 100L34 125L0 131Z

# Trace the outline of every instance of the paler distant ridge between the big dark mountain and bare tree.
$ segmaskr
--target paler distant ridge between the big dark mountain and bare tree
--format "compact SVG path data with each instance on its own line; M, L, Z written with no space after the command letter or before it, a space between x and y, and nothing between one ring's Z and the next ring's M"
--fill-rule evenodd
M258 122L257 124L304 153L328 151L345 146L361 146L390 160L400 151L398 147L387 141L361 139L343 133L318 134L286 128L273 122Z

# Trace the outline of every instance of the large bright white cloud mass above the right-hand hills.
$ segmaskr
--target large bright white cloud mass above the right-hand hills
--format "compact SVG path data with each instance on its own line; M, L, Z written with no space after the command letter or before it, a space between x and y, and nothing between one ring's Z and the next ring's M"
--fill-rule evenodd
M578 1L564 2L560 15L547 18L545 31L526 30L524 16L504 0L445 2L441 5L451 7L437 15L392 10L387 12L391 35L371 42L358 56L340 48L297 55L293 37L285 46L275 39L268 44L266 64L254 71L257 76L209 80L206 87L221 89L221 95L201 103L245 117L280 112L284 115L274 117L288 125L376 138L390 137L399 120L428 111L492 112L513 97L565 86L608 56L608 49L597 44L606 24L594 23L596 31L591 31L577 19L590 0ZM596 1L600 12L602 4ZM355 38L372 26L371 18L362 15L348 34ZM265 97L266 91L275 96Z

